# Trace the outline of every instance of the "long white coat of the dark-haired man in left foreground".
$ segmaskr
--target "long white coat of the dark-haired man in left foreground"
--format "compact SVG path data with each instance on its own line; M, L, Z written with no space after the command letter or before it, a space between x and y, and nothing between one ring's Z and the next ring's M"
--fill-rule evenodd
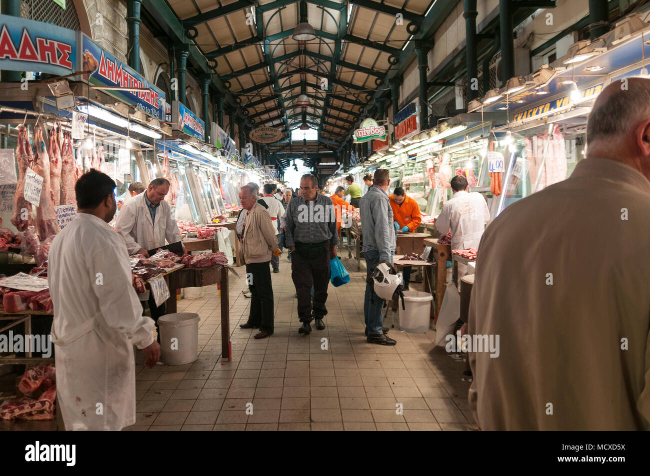
M55 236L47 273L66 430L133 425L133 345L153 342L154 323L142 316L122 238L102 219L80 213Z

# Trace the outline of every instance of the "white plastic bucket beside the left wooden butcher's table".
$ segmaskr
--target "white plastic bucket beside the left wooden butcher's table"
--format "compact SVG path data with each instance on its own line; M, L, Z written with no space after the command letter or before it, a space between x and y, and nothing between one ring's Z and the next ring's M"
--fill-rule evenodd
M198 357L199 321L194 312L165 314L158 319L161 361L168 365L191 364Z

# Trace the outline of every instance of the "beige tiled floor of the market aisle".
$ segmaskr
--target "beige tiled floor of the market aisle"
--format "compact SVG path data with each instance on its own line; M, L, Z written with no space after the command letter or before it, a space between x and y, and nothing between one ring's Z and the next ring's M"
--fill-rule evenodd
M346 253L345 253L346 254ZM352 269L352 262L343 261ZM253 339L239 329L250 299L245 276L231 279L233 362L220 362L216 286L201 299L183 299L179 312L198 312L200 356L186 366L144 368L138 353L133 430L471 430L465 364L438 347L435 332L391 329L395 347L369 344L363 335L365 269L350 283L330 286L326 329L298 334L291 268L283 255L273 274L275 333ZM242 269L243 268L238 268ZM232 275L231 275L232 276ZM416 284L416 286L418 286ZM321 338L328 349L321 349ZM246 414L246 404L253 414ZM403 415L396 414L402 403Z

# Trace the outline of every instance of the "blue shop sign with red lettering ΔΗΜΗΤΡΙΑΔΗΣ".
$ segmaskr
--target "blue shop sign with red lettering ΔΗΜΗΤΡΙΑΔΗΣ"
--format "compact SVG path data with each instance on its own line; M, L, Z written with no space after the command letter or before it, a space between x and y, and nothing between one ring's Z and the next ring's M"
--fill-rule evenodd
M116 88L144 88L142 91L105 90L105 92L128 105L135 106L152 118L164 121L164 92L115 56L110 55L86 35L82 35L79 64L81 71L90 71L88 84Z

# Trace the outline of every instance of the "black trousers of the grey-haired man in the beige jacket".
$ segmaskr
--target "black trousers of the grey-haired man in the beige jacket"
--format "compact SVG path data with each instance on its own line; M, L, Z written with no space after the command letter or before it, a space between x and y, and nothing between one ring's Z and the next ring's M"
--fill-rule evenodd
M248 289L251 301L248 323L259 326L260 331L273 333L273 286L271 284L271 269L268 261L263 263L246 264Z

